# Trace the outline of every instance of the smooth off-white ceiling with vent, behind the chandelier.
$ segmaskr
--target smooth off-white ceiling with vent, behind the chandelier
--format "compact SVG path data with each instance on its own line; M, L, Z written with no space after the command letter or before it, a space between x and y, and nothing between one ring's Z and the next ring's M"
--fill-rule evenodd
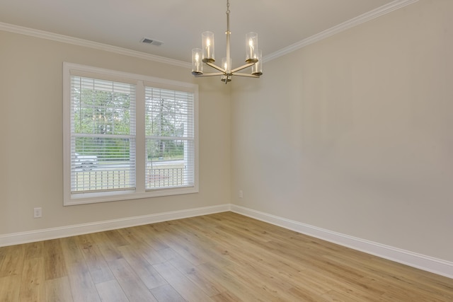
M248 32L258 33L266 57L357 16L407 2L230 0L233 65L242 64ZM205 30L214 32L216 59L225 56L225 11L226 0L1 0L0 23L190 62ZM145 45L143 37L164 45Z

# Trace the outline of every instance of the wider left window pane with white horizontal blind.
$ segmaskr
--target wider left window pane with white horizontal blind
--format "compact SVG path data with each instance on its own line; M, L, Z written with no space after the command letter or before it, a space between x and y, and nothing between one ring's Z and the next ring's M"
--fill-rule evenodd
M71 76L71 193L135 189L135 87Z

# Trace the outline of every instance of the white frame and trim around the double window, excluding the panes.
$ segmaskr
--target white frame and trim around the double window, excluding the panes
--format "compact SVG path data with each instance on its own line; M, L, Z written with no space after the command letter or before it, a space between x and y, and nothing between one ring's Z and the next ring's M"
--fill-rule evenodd
M136 188L135 190L87 192L83 194L71 193L71 76L87 76L95 79L106 79L132 83L136 86ZM194 158L193 185L190 187L145 189L145 93L144 86L171 89L193 93L193 131L194 131ZM176 194L192 194L199 192L198 177L198 86L193 83L159 79L151 76L130 74L122 71L101 69L93 66L63 63L63 204L91 204L96 202L113 202L119 200L139 199L147 197L161 197Z

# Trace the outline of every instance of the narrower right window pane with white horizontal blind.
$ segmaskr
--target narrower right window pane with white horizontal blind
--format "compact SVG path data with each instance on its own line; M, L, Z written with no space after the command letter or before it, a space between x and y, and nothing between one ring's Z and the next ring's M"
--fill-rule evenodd
M194 185L193 93L145 87L146 189Z

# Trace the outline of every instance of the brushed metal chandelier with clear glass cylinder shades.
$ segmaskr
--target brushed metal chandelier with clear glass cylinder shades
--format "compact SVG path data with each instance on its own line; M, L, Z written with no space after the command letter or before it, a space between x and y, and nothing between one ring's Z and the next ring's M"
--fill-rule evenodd
M226 57L222 59L222 65L214 64L214 33L205 31L202 33L202 49L194 48L192 50L192 74L195 77L201 76L222 76L221 80L225 83L231 81L232 76L247 76L249 78L259 78L263 74L262 70L262 53L258 50L258 34L246 34L246 64L231 69L231 56L229 45L229 0L226 0ZM203 73L203 64L217 69L219 72ZM243 74L238 71L251 68L251 74Z

